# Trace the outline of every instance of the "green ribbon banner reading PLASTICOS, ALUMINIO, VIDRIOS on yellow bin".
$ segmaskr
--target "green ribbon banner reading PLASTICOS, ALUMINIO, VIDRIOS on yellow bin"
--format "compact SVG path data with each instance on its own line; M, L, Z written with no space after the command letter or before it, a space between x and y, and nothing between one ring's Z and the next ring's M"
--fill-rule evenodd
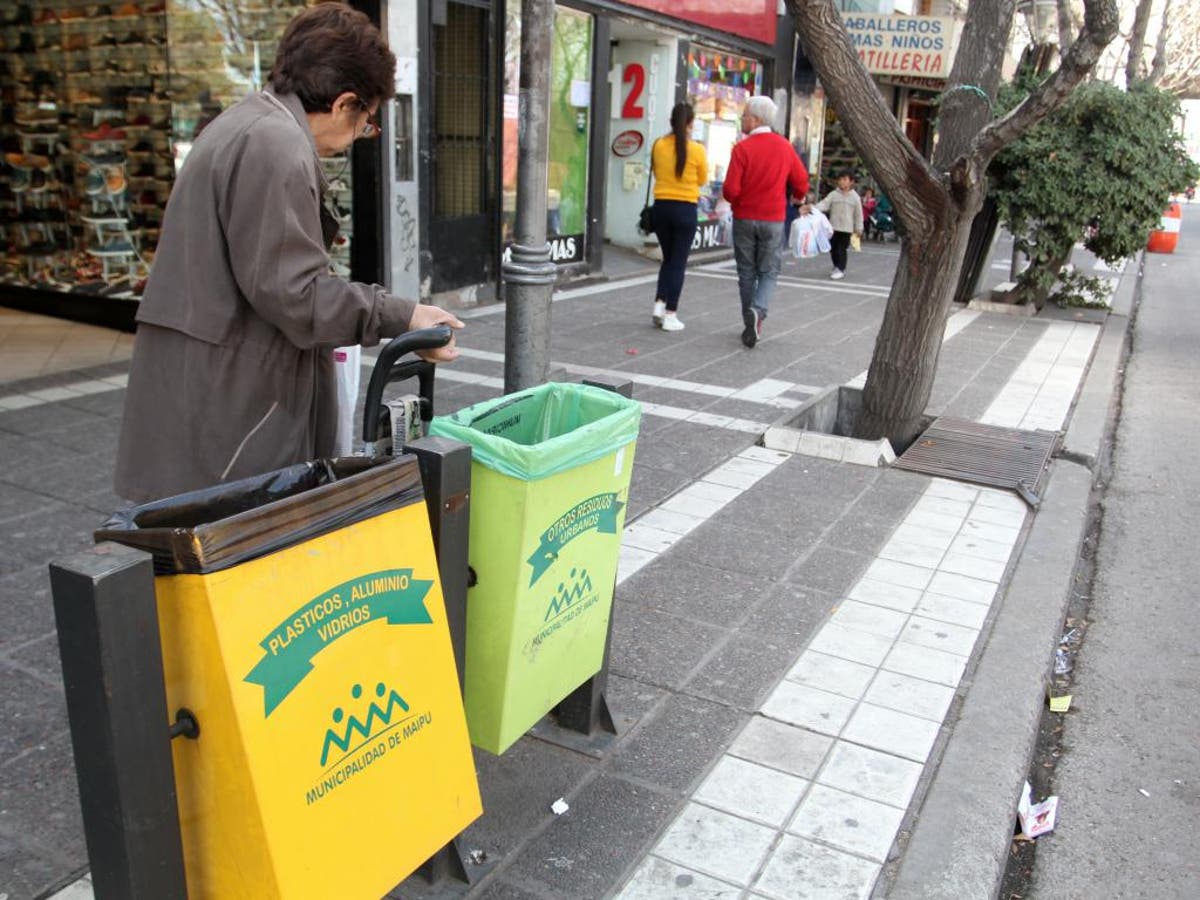
M276 625L258 646L266 655L246 676L263 686L263 718L269 716L312 671L312 658L370 622L428 625L425 596L431 580L412 569L385 569L342 582L304 604Z

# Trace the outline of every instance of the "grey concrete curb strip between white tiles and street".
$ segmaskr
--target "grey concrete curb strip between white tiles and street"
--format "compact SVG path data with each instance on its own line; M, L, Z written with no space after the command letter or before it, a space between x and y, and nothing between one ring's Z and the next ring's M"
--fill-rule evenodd
M1098 461L1140 299L1142 257L1129 260L1072 410L1045 499L1033 518L937 769L893 863L892 900L996 898L1045 706L1054 638L1070 602L1091 521Z

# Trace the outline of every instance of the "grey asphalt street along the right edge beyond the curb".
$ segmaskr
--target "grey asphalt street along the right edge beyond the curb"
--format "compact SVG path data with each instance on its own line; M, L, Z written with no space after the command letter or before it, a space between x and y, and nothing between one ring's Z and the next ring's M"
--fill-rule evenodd
M1037 900L1200 895L1200 209L1147 254Z

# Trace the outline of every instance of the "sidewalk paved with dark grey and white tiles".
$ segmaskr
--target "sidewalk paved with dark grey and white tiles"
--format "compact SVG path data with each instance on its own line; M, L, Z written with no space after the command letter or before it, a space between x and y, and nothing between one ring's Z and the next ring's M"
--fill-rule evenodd
M679 334L649 326L649 277L559 294L557 374L630 377L646 406L614 613L622 733L600 760L532 737L476 755L485 815L463 846L494 868L470 896L868 896L906 877L904 847L937 798L960 710L1008 692L979 673L1042 514L1003 492L756 446L818 388L865 370L894 253L869 246L838 283L824 260L790 263L752 352L728 266L689 272ZM931 412L1067 425L1098 326L965 311L950 322ZM439 409L500 389L503 316L470 316L463 344L439 373ZM112 505L120 373L0 386L14 461L0 475L0 530L17 550L0 576L11 900L85 864L44 563L84 546ZM1048 504L1078 493L1060 484ZM1043 672L1054 638L1026 642ZM1039 695L1019 700L1040 708ZM1027 754L1014 742L997 743ZM1007 808L1010 824L1016 797L1002 794L982 797L982 818ZM559 797L571 809L554 816ZM1003 828L991 830L1002 854ZM84 896L86 882L71 889ZM462 893L409 880L392 895Z

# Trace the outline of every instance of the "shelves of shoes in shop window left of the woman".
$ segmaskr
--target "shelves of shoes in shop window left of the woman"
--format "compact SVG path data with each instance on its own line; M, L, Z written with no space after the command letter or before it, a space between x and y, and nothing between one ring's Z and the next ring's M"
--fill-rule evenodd
M20 198L0 204L6 250L28 259L28 281L74 283L103 275L107 282L144 272L146 238L157 236L160 196L166 199L174 166L169 150L167 12L161 0L96 4L92 0L16 2L0 10L6 92L48 115L16 116L5 149L49 157L58 190L41 191L37 167L0 169L0 182L31 180ZM5 116L7 118L7 116ZM2 126L0 126L2 128ZM49 132L53 131L53 134ZM136 162L127 149L145 151ZM157 155L157 158L156 158ZM158 164L157 160L166 157ZM136 164L154 182L131 191ZM2 175L8 175L4 179ZM49 173L47 173L49 178ZM130 228L131 199L152 199ZM82 247L80 247L82 245ZM72 252L76 250L77 252ZM43 270L53 270L53 277Z

